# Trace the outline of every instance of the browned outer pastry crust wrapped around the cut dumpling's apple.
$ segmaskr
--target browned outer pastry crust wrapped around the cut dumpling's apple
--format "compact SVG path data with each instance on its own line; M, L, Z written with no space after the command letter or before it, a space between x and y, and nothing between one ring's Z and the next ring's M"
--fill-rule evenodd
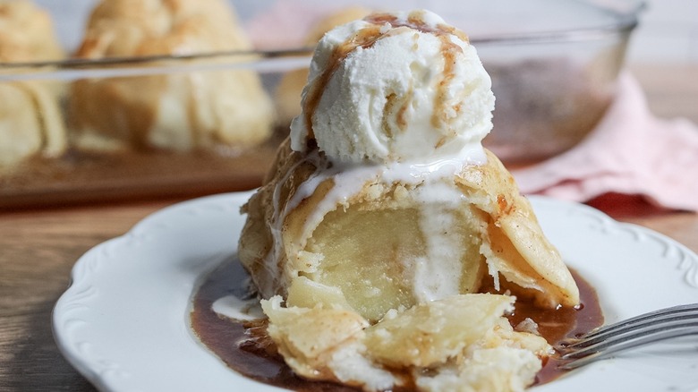
M413 185L382 183L375 179L366 180L361 191L342 204L323 207L327 206L322 204L326 196L336 186L331 176L318 182L311 194L291 206L294 196L297 200L299 192L305 192L301 190L303 183L308 182L318 169L316 161L292 151L285 142L279 148L275 168L265 185L243 207L248 218L240 239L239 256L245 268L251 272L252 280L263 298L275 294L286 297L297 277L312 277L310 269L319 268L318 265L321 267L321 261L313 261L317 251L313 251L309 244L313 243L315 231L328 225L325 219L333 211L402 210L404 213L415 208L413 199L399 196L413 192ZM501 290L513 290L520 297L535 298L543 306L575 306L579 303L574 278L558 251L542 233L531 204L518 192L514 178L498 158L488 152L485 165L464 166L449 179L446 186L460 193L465 200L461 204L463 209L472 211L467 217L475 222L464 229L464 234L469 237L464 237L463 242L472 242L472 236L478 237L474 239L474 244L494 285ZM360 208L353 209L353 206ZM316 212L323 208L323 213ZM278 222L279 218L283 222ZM399 236L404 229L400 225L381 227L386 236ZM349 232L345 235L354 234ZM376 242L379 240L383 238L375 239ZM366 241L370 242L371 239L367 238ZM372 251L380 250L373 243L360 245ZM391 262L400 263L399 258L389 256L391 249L387 244L383 251L387 259L392 258ZM307 263L313 264L313 267L309 269ZM484 270L475 269L473 279L479 280ZM477 291L479 288L480 285L475 282L468 285L465 291ZM401 304L410 306L414 302L408 300ZM379 311L378 316L385 311L387 309Z

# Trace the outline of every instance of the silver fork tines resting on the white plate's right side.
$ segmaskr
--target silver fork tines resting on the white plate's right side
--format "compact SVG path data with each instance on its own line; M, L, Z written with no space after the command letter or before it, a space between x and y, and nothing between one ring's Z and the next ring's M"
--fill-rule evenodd
M612 354L674 337L698 335L698 303L651 311L567 338L555 347L561 369L572 370Z

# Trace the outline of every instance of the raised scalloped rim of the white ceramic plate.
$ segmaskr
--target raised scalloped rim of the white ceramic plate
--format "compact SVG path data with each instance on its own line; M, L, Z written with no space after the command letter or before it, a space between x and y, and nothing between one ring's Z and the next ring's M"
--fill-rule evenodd
M166 226L166 223L169 221L176 221L177 218L181 218L183 216L188 216L188 215L196 215L192 213L192 211L196 211L197 209L204 210L201 212L203 214L200 217L197 217L197 219L200 220L200 222L197 222L197 224L203 225L205 228L208 227L207 224L209 223L209 220L215 220L217 222L216 225L224 225L226 219L231 219L235 221L235 225L237 225L236 229L239 229L239 227L242 225L243 217L239 215L234 215L232 213L233 210L239 209L239 207L245 202L249 196L252 194L253 191L250 192L233 192L233 193L223 193L223 194L217 194L217 195L211 195L199 199L194 199L194 200L186 200L177 204L174 204L172 206L168 206L164 209L160 209L152 214L150 214L147 217L144 217L143 219L140 220L136 225L132 227L131 230L129 230L126 234L123 234L121 236L115 237L111 240L108 240L104 243L100 243L97 246L93 247L89 251L87 251L84 255L81 256L79 260L75 263L74 267L72 268L72 273L71 273L71 285L68 287L68 289L64 292L63 295L59 298L58 302L55 304L55 308L52 314L52 321L53 321L53 331L54 331L54 337L55 337L55 342L58 345L60 351L62 354L64 354L64 357L72 364L72 366L79 371L84 377L89 379L90 382L92 382L97 388L101 390L113 390L113 391L122 391L122 390L131 390L131 388L123 388L119 384L119 377L116 377L115 375L118 376L118 363L115 364L115 370L109 370L107 371L98 371L98 364L91 360L90 358L87 357L87 355L79 353L78 350L76 349L77 342L72 341L72 337L70 337L70 334L66 330L64 326L64 318L66 317L66 312L67 311L76 311L76 308L79 308L81 305L78 303L78 300L80 298L80 295L83 293L76 292L78 289L81 287L81 285L85 285L85 282L88 282L90 278L95 278L96 272L92 271L91 273L93 274L90 276L90 265L91 264L99 264L101 261L98 259L98 256L100 255L100 252L103 252L110 247L112 248L118 248L118 247L123 247L125 246L126 249L129 249L130 242L134 241L135 237L138 237L139 235L148 235L149 232L155 231L153 230L153 227L156 227L158 225L163 225L162 230L181 230L182 227L180 226L171 226L168 228ZM573 223L579 225L580 222L589 224L589 225L594 225L594 222L598 227L594 228L593 230L600 232L601 237L603 235L607 235L609 233L604 234L604 230L609 231L609 235L619 235L621 237L625 237L627 235L631 236L636 236L638 238L644 236L646 237L646 241L650 243L652 246L658 245L660 247L666 248L668 251L674 251L678 252L679 258L683 258L680 261L680 263L683 265L684 263L687 262L687 267L685 266L678 266L678 268L674 269L679 269L673 271L675 275L681 275L685 276L689 272L694 271L695 268L698 268L698 255L696 255L693 251L690 251L688 248L686 248L684 245L677 243L673 239L669 238L668 236L664 234L659 234L657 232L654 232L648 228L645 228L643 226L636 226L632 224L627 224L627 223L621 223L617 222L616 220L612 219L608 215L604 214L603 212L593 209L592 207L583 205L583 204L578 204L575 202L570 202L570 201L565 201L565 200L556 200L556 199L551 199L548 197L542 197L542 196L529 196L529 199L532 201L532 205L534 207L534 210L536 211L536 215L539 217L539 220L541 221L541 226L543 226L544 231L546 234L549 236L551 242L555 243L558 248L560 248L560 240L558 237L562 234L561 232L565 232L565 230L558 230L560 226L565 226L563 220L559 217L558 214L560 212L564 212L568 214L570 217L573 219ZM217 208L215 212L213 211L205 211L207 208ZM223 209L220 209L223 207ZM224 215L220 216L220 213L223 212ZM206 215L210 214L210 215ZM216 215L218 214L218 215ZM220 222L218 222L218 219L221 219ZM576 221L575 221L576 219ZM204 230L205 230L204 228ZM573 227L575 230L582 230L582 233L585 233L586 235L589 235L590 232L592 232L592 229L589 227ZM186 231L186 228L184 228ZM167 232L169 233L169 232ZM157 233L156 233L157 234ZM196 233L192 233L196 234ZM593 236L593 235L592 235ZM157 241L157 235L154 236L155 239L150 238L149 241ZM231 235L231 243L234 243L234 237ZM160 239L161 240L161 239ZM566 241L566 240L564 240ZM627 240L625 240L627 241ZM634 241L640 241L640 240L634 240ZM236 249L236 246L234 244L226 244L227 246L226 249L230 250L232 249L233 252ZM565 246L569 246L569 243L566 243ZM649 247L649 245L647 245ZM563 256L566 256L566 248L561 248L561 251L563 252ZM665 251L665 253L668 253L668 251ZM208 267L200 267L200 272L196 276L197 280L201 277L203 274L203 271L208 271L210 270L211 266L217 265L217 263L220 262L222 256L219 255L220 257L218 260L211 259L209 261ZM669 258L665 254L665 259ZM207 256L210 258L210 255ZM673 256L672 256L673 257ZM108 259L108 258L107 258ZM687 260L687 261L686 261ZM576 263L574 261L566 260L569 262L573 267L577 269L583 269L580 268L581 266L575 265ZM98 266L99 267L99 266ZM677 267L677 266L674 266ZM139 267L140 268L140 267ZM197 267L199 268L199 267ZM682 270L682 268L688 268L688 271ZM587 272L591 272L592 269L589 269ZM586 274L583 274L584 277L587 277ZM673 279L673 277L672 277ZM590 279L591 280L591 279ZM192 286L196 285L197 282L191 282ZM592 284L594 282L592 281ZM692 296L693 302L695 301L695 298L698 298L698 283L693 284L694 282L689 282L685 281L685 286L688 287L687 291L684 290L682 291L682 295L680 298L688 298L685 293L690 293ZM672 288L676 291L677 287L681 288L683 286L672 286ZM686 287L683 287L682 289L685 289ZM600 288L600 287L598 287ZM604 287L605 288L605 287ZM685 293L684 293L685 292ZM189 297L191 293L187 293L187 297ZM612 303L612 301L609 301L609 303L605 303L604 299L601 299L602 307L604 310L604 313L606 314L607 320L613 321L614 318L618 317L626 317L627 314L622 314L623 310L619 309L622 307L616 306L617 304ZM651 305L647 305L649 307L648 310L651 310ZM78 310L80 311L80 310ZM83 310L84 311L84 310ZM108 310L102 310L102 311L107 311ZM88 310L88 313L90 311ZM186 312L186 310L183 310L183 312ZM636 314L636 313L635 313ZM610 316L610 317L609 317ZM183 325L186 325L186 320L182 320ZM108 334L107 334L108 337ZM193 336L190 336L192 340L194 340ZM128 340L128 339L126 339ZM124 342L128 343L128 342ZM187 344L191 344L192 342L188 342ZM195 342L196 343L196 342ZM213 358L212 355L208 353L208 351L201 345L199 345L198 349L202 352L205 352L206 355L209 355L211 357L212 362L208 362L209 366L219 366L219 367L224 367L220 362L217 362L216 358ZM157 354L157 353L155 353ZM633 357L627 361L621 360L617 361L614 359L611 359L606 362L599 362L597 364L592 365L591 367L588 367L586 369L583 369L581 371L577 371L574 373L571 373L570 375L563 377L562 379L559 379L557 381L554 381L550 384L535 387L535 390L538 391L554 391L554 390L562 390L564 387L564 390L566 391L571 391L571 390L584 390L582 386L582 382L588 379L588 377L583 377L583 375L590 374L592 372L599 373L601 375L604 374L604 372L608 373L608 371L614 371L614 369L618 368L617 363L625 363L625 362L633 362L637 361L636 359L634 360ZM204 361L205 362L205 361ZM196 365L197 363L192 363L193 365ZM627 369L621 369L624 372L627 372ZM240 376L234 371L230 371L227 368L224 370L227 373L229 373L230 376L226 379L227 381L230 381L231 379L234 380L234 385L226 384L225 386L221 386L221 389L225 389L227 387L234 387L234 386L245 386L246 388L254 388L254 390L277 390L277 388L272 388L264 384L259 384L254 381L251 381L250 379L246 379L243 376ZM631 371L632 373L632 371ZM222 373L221 373L222 374ZM605 374L605 376L608 376L608 374ZM129 374L128 377L136 377L138 378L139 375L136 374L135 376ZM611 379L612 379L611 375ZM145 379L144 383L157 383L157 380L149 380ZM163 382L166 382L166 380L163 380ZM172 387L175 384L171 383L171 380L167 380L167 382L170 382L169 386ZM698 391L698 379L696 380L691 380L691 385L690 386L683 386L685 390L697 390ZM215 385L215 383L214 383ZM661 384L663 385L663 384ZM588 387L588 385L586 385ZM146 390L152 389L152 388L160 388L162 386L157 386L157 385L143 385L143 388ZM559 387L559 388L558 388ZM651 389L646 389L646 390L651 390Z

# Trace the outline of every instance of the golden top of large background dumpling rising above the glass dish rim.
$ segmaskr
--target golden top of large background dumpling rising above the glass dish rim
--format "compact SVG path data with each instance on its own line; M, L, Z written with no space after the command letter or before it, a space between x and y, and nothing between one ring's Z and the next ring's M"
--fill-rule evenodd
M251 49L240 22L219 0L102 1L76 56L191 55Z

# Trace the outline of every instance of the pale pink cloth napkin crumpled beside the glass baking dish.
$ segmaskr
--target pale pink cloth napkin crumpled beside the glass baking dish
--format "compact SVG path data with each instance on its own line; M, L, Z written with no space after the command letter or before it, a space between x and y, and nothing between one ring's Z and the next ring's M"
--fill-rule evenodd
M618 83L609 111L582 143L512 172L521 191L580 202L642 195L666 209L698 210L698 127L651 115L629 72Z

